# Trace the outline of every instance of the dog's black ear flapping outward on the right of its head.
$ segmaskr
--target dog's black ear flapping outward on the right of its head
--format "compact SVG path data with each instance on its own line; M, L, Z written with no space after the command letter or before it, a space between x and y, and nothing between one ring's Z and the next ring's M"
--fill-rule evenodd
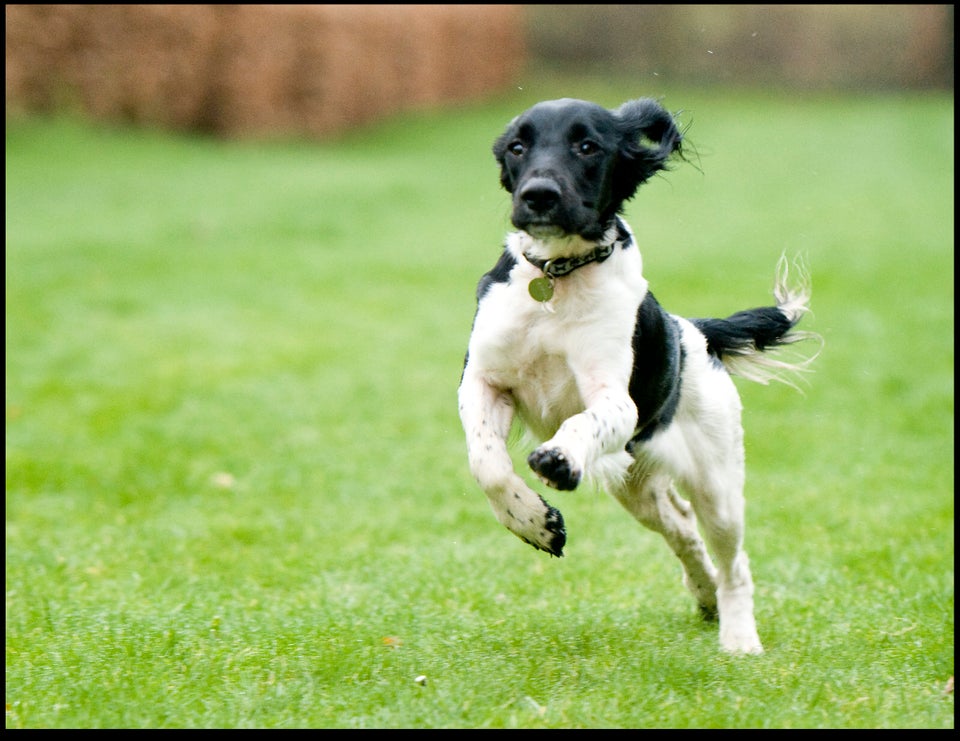
M683 134L657 101L640 98L613 111L620 134L620 161L614 173L614 195L626 201L661 170L673 154L680 155Z

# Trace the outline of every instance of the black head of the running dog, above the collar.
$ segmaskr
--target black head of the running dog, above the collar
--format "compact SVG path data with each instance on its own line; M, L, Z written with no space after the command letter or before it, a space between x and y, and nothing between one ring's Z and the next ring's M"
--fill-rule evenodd
M493 153L517 229L598 240L637 188L666 169L680 140L673 117L650 98L612 111L564 98L517 116Z

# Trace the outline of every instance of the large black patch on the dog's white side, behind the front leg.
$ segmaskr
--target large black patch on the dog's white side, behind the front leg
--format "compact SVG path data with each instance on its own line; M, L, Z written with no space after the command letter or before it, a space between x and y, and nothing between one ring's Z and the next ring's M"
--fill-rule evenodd
M627 443L628 453L673 419L680 402L682 370L680 326L648 291L637 310L633 332L630 398L637 405L637 431Z

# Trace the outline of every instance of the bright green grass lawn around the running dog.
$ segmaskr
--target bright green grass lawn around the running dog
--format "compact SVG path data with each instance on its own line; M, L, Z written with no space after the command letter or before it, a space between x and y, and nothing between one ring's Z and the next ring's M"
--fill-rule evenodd
M952 96L668 91L695 166L628 208L677 313L811 267L809 387L739 383L766 654L606 495L548 495L557 560L469 476L490 144L661 92L326 144L8 122L7 727L952 728Z

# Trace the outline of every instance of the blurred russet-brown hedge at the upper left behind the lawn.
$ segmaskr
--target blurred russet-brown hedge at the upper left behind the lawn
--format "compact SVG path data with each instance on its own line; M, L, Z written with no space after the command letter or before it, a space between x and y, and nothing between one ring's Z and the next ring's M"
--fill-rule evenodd
M7 115L328 135L523 66L515 5L7 5Z

